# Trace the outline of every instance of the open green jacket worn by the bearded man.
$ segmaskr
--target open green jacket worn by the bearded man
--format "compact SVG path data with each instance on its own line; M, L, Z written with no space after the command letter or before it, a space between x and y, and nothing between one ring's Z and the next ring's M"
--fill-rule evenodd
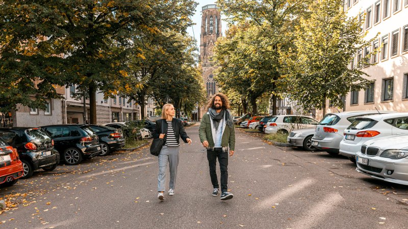
M208 141L209 147L214 147L210 121L210 115L208 113L202 116L200 128L198 128L198 135L201 143ZM228 147L228 145L230 150L235 150L235 129L226 125L221 137L221 147Z

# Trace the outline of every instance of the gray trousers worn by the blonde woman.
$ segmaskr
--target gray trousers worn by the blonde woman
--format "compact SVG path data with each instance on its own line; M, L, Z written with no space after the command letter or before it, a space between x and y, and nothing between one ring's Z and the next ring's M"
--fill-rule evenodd
M157 176L158 184L157 191L164 192L166 188L164 183L166 181L167 163L170 166L170 184L169 188L175 188L175 179L177 177L177 166L179 166L180 147L163 146L159 154L159 175Z

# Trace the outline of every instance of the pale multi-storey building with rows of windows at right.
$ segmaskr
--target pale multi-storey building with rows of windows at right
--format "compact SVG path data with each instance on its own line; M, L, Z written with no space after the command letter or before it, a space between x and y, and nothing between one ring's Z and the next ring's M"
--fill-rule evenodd
M344 110L408 111L408 0L345 0L348 16L365 21L361 33L366 39L379 33L370 47L355 54L349 67L361 58L369 58L374 66L363 67L373 82L365 90L350 92L345 98ZM367 56L380 47L380 52ZM337 112L336 108L328 112Z

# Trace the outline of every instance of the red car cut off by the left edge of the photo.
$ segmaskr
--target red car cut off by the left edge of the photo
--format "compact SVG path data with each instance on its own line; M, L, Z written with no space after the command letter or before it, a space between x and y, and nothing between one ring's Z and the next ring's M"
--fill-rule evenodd
M14 185L22 175L22 162L17 150L0 138L0 187Z

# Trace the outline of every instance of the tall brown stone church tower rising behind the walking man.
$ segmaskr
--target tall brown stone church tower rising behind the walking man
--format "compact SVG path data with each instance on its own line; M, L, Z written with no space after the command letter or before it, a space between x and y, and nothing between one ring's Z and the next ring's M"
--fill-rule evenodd
M217 68L212 62L213 48L221 33L221 14L215 4L202 7L201 34L200 34L200 63L202 68L202 79L206 88L207 98L218 93L213 71ZM199 119L207 112L203 107L199 110Z

